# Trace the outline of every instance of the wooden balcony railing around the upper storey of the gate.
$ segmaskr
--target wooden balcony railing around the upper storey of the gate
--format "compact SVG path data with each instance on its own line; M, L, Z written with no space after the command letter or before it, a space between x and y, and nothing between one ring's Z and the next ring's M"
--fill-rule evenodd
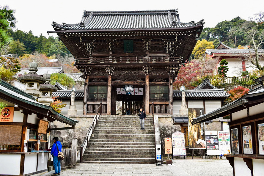
M93 58L85 58L78 59L75 64L80 63L130 63L130 62L180 62L180 57L164 57L164 56L137 56L137 57L93 57Z

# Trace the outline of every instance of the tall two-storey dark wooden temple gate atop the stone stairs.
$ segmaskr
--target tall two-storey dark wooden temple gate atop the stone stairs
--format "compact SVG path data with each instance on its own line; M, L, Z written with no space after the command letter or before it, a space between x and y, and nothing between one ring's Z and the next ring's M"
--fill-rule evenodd
M202 32L204 21L180 22L177 9L155 11L90 12L81 22L52 26L75 57L83 73L84 114L100 102L103 113L116 114L116 101L136 104L150 113L152 101L172 114L172 81L186 63ZM133 85L142 95L117 94ZM87 112L89 110L89 112Z

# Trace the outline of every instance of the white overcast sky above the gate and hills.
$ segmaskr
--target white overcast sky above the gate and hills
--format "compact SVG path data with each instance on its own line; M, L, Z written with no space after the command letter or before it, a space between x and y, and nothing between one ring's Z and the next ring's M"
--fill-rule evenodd
M79 23L83 10L87 11L130 11L130 10L170 10L178 9L181 22L205 20L205 27L214 27L220 21L232 20L240 16L248 19L255 13L264 11L264 0L1 0L16 10L16 29L31 30L34 35L49 36L52 21L61 24ZM51 34L50 34L51 35ZM56 37L56 34L52 34Z

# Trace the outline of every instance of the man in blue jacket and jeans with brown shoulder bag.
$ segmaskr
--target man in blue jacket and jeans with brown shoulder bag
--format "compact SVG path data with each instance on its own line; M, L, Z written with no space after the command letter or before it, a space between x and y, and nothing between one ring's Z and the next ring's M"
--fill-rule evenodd
M51 176L57 176L57 175L60 175L60 160L58 159L58 153L59 151L60 152L62 151L62 144L61 142L59 142L58 137L54 137L53 142L54 144L52 145L52 148L51 148L51 155L53 155L53 166L54 166L55 172ZM58 146L59 151L57 149L57 146Z

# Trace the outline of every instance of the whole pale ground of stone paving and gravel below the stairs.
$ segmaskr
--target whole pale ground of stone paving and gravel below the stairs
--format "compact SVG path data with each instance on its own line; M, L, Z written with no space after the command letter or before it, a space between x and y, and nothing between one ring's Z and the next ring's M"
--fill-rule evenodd
M214 168L214 169L212 169ZM188 172L188 173L187 173ZM54 173L54 171L53 171ZM42 176L49 176L46 173ZM108 175L108 176L232 176L232 167L226 159L175 159L172 165L163 164L84 164L76 169L61 171L63 176L72 175Z

